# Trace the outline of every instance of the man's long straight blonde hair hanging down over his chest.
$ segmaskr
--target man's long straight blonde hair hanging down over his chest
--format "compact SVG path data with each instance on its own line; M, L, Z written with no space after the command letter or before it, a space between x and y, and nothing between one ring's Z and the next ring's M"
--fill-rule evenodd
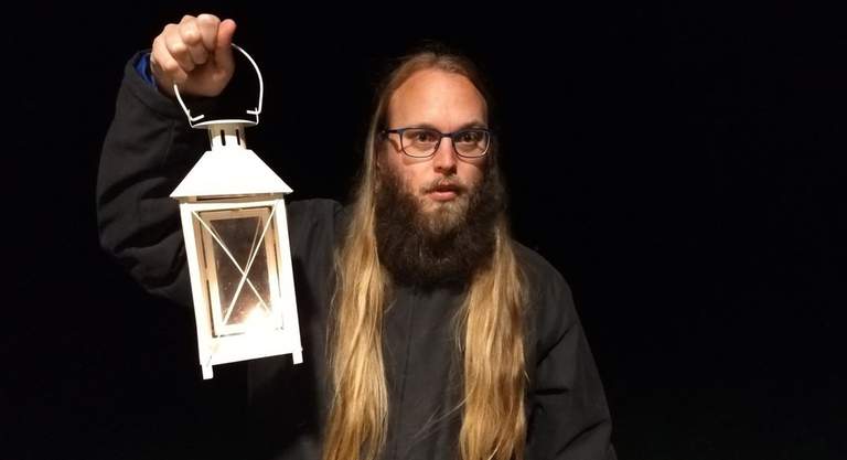
M403 60L378 93L352 216L335 255L337 282L328 349L332 400L324 460L373 460L385 443L389 402L383 317L392 297L392 281L377 250L375 162L392 95L412 74L426 68L463 75L483 95L487 94L470 61L439 51L418 52ZM498 173L493 150L487 160L489 174ZM463 362L459 434L462 460L524 457L526 296L504 213L495 226L491 264L473 276L457 317L457 352Z

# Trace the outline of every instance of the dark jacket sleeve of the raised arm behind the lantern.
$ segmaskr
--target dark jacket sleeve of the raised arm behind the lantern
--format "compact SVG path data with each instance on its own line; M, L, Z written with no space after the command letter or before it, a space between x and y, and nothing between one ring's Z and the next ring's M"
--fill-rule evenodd
M100 245L149 292L191 304L178 203L171 192L206 150L179 105L127 63L97 176Z

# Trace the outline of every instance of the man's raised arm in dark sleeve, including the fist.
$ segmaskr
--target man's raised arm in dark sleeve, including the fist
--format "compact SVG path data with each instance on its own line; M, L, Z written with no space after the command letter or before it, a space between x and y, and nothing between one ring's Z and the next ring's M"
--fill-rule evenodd
M148 291L191 304L178 204L169 195L207 149L172 98L201 106L233 76L235 22L211 14L168 24L126 66L97 178L101 246ZM149 67L147 65L149 64ZM154 84L146 81L148 69Z

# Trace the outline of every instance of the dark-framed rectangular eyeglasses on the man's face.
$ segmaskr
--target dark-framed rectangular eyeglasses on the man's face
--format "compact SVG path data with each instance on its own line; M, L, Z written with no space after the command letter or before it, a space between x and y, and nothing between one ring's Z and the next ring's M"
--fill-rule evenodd
M453 141L453 151L463 158L480 158L489 151L491 131L482 128L462 129L453 132L441 132L430 128L386 129L384 136L398 135L400 149L414 158L431 157L441 145L441 139Z

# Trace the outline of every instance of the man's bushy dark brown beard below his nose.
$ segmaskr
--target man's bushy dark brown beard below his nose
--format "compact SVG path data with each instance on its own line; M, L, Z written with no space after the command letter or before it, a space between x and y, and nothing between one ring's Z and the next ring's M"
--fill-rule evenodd
M376 197L379 261L400 285L427 288L469 281L491 264L505 193L495 167L479 185L443 178L420 192L450 184L457 196L425 211L429 199L411 193L398 174L380 169Z

